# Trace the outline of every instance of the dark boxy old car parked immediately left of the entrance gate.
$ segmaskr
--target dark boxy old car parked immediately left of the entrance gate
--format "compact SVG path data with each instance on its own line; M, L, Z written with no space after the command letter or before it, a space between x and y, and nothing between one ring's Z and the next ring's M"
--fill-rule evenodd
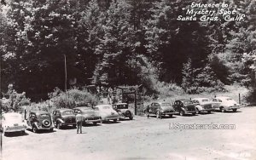
M127 103L116 103L113 104L113 110L119 113L119 117L125 119L128 117L130 120L133 119L133 113L130 109L128 109Z

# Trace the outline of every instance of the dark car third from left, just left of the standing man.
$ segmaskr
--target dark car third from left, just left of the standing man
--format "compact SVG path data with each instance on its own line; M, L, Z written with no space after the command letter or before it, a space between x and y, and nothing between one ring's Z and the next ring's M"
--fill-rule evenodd
M74 128L76 127L76 115L72 109L56 109L52 112L52 119L57 129L68 125L72 125Z

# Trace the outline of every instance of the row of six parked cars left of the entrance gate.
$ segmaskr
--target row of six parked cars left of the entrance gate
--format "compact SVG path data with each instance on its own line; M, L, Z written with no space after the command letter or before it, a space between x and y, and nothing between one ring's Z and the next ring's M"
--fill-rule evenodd
M55 109L52 114L49 111L30 111L26 120L20 113L4 113L1 117L0 129L3 134L22 132L26 129L38 133L39 130L52 132L54 128L62 129L65 126L76 127L76 114L81 114L83 123L106 123L110 120L116 123L121 118L133 119L133 113L128 109L128 104L118 103L113 106L98 105L93 108L79 106L73 109Z

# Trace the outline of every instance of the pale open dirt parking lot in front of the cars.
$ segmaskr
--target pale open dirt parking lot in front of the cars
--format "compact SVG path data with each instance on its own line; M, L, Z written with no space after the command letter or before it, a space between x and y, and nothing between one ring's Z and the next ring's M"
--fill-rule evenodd
M67 159L256 159L256 107L163 119L55 129L53 133L2 135L2 160ZM175 125L174 125L175 124ZM236 129L171 129L177 124L235 124Z

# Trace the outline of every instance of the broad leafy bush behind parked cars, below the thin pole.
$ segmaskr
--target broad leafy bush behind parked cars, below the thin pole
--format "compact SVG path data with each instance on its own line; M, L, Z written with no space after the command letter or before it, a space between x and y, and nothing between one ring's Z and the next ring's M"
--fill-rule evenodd
M74 108L76 106L96 106L96 95L90 94L86 89L69 89L67 92L55 89L49 93L49 99L56 108Z

